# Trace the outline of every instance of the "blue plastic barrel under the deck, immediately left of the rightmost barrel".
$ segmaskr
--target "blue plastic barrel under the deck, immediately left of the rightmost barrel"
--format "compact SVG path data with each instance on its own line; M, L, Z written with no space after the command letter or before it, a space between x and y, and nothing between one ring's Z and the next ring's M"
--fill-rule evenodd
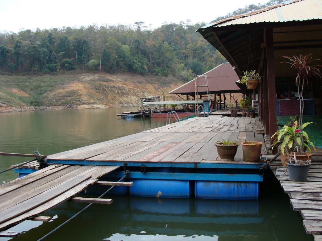
M189 198L193 189L186 180L132 179L130 195L137 197Z

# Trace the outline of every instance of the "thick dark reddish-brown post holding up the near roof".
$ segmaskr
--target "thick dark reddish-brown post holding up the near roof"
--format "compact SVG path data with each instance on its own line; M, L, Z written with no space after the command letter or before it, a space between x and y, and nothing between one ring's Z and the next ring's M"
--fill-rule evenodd
M276 90L275 90L275 70L274 70L274 50L273 50L273 29L266 29L266 59L267 59L267 80L268 80L268 112L270 137L277 131L277 126L274 123L276 119ZM273 143L270 139L270 144ZM277 150L275 149L275 152Z

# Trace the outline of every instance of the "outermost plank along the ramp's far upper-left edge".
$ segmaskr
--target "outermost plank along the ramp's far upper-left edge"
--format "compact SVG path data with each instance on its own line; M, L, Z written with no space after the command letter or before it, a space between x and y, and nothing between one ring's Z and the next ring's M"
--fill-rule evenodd
M0 186L0 196L7 193L7 192L11 192L17 188L23 187L24 185L27 185L29 183L33 183L40 178L46 177L54 172L58 172L58 171L65 169L69 166L70 165L50 165L50 166L43 168L37 172L25 175L21 178L17 178L9 183L5 183Z

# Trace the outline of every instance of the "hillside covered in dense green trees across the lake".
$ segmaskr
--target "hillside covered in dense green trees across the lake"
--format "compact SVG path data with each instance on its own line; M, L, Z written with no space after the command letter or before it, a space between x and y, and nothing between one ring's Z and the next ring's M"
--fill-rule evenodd
M217 17L213 22L280 2L272 0L267 4L249 5ZM155 76L160 86L163 77L180 83L190 81L195 74L205 73L226 61L201 34L195 32L206 24L189 21L164 23L159 28L150 29L145 22L134 22L130 26L92 24L79 28L53 26L51 29L28 29L18 33L1 32L0 75L3 77L0 94L5 93L1 98L12 103L14 98L18 103L18 96L7 94L16 88L28 94L28 98L19 97L22 102L18 104L47 104L44 97L53 90L57 91L59 83L64 82L66 88L69 80L37 77L44 74L133 73L148 75L150 79ZM53 99L57 101L59 96ZM59 100L59 103L66 102Z

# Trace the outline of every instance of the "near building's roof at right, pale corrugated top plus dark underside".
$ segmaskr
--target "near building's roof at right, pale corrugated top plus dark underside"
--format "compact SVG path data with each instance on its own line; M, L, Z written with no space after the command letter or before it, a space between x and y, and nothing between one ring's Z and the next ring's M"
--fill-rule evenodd
M293 76L294 73L288 73L290 68L281 64L285 61L283 56L322 56L322 0L284 2L208 24L197 32L242 75L245 70L260 72L266 29L273 31L275 76Z

